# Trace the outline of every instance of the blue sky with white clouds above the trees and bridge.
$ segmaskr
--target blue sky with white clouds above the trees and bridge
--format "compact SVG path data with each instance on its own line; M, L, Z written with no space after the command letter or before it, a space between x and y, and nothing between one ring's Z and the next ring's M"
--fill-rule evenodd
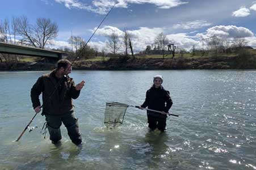
M256 48L256 1L250 0L1 0L0 20L27 16L49 18L58 25L58 36L51 48L71 48L71 35L89 39L100 21L115 5L98 29L90 46L108 50L111 33L120 40L127 31L136 52L154 44L159 33L177 48L203 48L208 37L243 37ZM120 48L120 52L121 52Z

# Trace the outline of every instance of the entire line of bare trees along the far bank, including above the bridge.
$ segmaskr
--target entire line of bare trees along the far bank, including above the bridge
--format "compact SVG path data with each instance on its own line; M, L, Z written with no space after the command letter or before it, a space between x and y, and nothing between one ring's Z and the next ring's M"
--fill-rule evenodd
M0 41L18 44L18 45L30 45L36 48L44 49L48 44L51 44L51 40L54 40L58 35L58 25L52 22L51 19L37 18L34 24L28 22L26 16L12 17L9 19L0 20ZM72 49L65 48L64 51L70 53L70 56L77 56L80 54L82 58L89 58L95 56L128 56L133 53L133 41L132 35L127 31L124 31L122 36L117 33L112 33L107 36L106 48L103 48L100 52L96 47L91 48L89 45L85 46L85 40L80 36L70 36L68 42ZM174 44L163 33L159 33L154 37L154 41L151 45L147 45L145 50L142 50L139 54L162 54L164 58L168 54L175 53L173 49L167 50L167 45ZM221 53L230 53L233 49L242 49L247 45L247 41L244 38L236 37L234 39L221 39L218 36L214 36L207 41L204 41L203 47L198 47L198 44L191 44L191 49L187 51L184 48L177 46L177 52L180 56L183 53L191 53L194 56L196 53L201 53L202 56L213 53L217 56ZM108 50L107 50L108 49ZM61 50L61 49L57 49ZM123 52L121 52L123 50ZM3 56L3 54L2 54ZM5 60L7 59L3 56ZM1 57L0 57L1 59ZM1 59L2 62L2 59Z

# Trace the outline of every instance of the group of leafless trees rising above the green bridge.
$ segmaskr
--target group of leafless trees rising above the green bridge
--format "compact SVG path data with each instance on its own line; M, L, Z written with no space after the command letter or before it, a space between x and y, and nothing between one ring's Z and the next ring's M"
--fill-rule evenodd
M51 19L37 18L35 24L28 22L26 16L0 20L0 41L45 48L58 35L58 25Z

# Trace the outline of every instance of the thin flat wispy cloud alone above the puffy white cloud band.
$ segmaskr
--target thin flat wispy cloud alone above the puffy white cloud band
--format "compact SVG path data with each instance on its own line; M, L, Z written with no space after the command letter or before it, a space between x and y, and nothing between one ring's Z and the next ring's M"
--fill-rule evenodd
M206 20L194 20L192 22L181 22L173 25L173 28L182 28L182 29L193 29L193 28L202 28L211 25Z

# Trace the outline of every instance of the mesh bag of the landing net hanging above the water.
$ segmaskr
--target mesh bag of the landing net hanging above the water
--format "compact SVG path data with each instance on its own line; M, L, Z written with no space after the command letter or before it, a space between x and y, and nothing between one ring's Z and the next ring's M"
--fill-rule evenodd
M123 103L106 103L104 124L107 128L116 128L123 124L124 115L128 108L127 104Z

